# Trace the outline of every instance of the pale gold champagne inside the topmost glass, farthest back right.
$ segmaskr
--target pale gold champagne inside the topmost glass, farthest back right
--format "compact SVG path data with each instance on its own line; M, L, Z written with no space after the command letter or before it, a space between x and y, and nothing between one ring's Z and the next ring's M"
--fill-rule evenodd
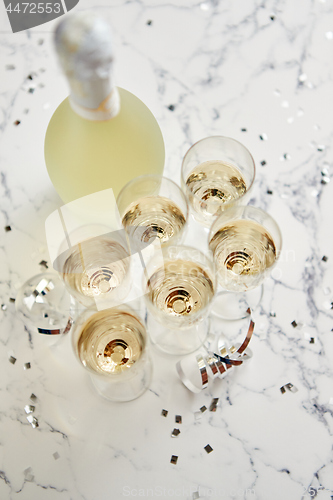
M195 167L186 179L186 186L194 210L208 216L221 214L225 203L243 196L247 190L238 168L221 160L206 161Z

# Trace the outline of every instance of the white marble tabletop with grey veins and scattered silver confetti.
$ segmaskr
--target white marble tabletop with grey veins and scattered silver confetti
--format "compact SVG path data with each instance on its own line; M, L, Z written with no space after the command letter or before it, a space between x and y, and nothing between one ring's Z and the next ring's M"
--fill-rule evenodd
M284 248L246 365L193 395L175 359L156 354L144 396L126 404L100 399L69 338L49 346L24 328L9 301L48 258L44 221L60 199L43 138L67 87L53 53L54 23L12 34L0 7L0 498L187 500L199 491L206 499L329 500L333 183L323 184L321 172L333 173L332 2L80 0L75 9L91 7L114 27L117 84L159 120L166 175L179 179L182 156L202 137L240 140L257 164L251 203L276 218ZM289 382L298 392L282 394ZM31 393L37 429L24 412ZM212 397L219 408L196 421ZM175 414L183 423L173 439Z

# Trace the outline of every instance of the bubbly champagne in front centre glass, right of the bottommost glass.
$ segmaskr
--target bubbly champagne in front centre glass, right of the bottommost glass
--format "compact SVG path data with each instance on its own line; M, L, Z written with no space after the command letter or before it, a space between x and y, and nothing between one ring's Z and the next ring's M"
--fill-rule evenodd
M166 261L147 283L148 298L167 317L198 316L214 295L214 281L195 262Z

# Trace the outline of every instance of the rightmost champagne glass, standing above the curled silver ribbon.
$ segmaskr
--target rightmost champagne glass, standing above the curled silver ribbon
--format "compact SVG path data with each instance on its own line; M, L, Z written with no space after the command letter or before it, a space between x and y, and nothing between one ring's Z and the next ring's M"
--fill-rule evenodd
M279 226L260 208L235 206L214 221L208 245L226 290L217 294L214 312L224 319L246 317L248 307L260 302L262 282L280 255Z

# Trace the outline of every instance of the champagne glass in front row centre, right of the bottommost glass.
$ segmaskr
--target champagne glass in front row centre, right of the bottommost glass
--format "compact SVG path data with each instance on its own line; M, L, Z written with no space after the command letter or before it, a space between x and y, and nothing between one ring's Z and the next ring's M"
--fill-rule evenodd
M144 297L152 343L169 354L189 354L208 334L216 289L213 260L196 248L168 246L145 269Z

